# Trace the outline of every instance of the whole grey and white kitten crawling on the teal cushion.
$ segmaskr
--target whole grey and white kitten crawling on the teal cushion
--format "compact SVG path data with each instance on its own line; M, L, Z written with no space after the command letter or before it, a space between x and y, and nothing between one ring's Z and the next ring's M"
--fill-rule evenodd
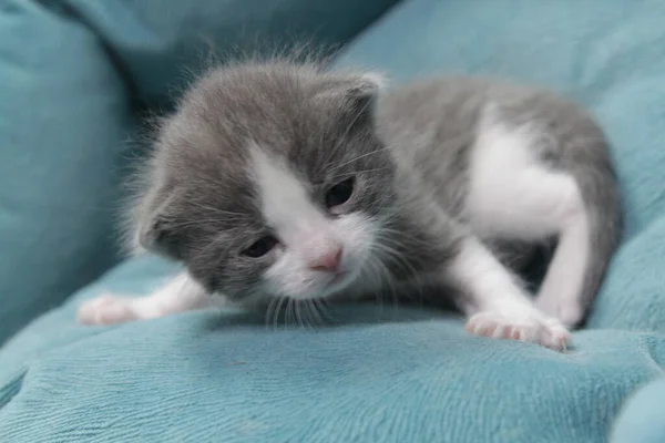
M186 271L85 323L153 318L223 295L247 307L452 289L467 329L562 349L621 234L602 131L541 90L248 62L208 73L161 126L135 244ZM556 239L532 302L500 257ZM448 288L443 290L443 288ZM296 301L293 301L296 300Z

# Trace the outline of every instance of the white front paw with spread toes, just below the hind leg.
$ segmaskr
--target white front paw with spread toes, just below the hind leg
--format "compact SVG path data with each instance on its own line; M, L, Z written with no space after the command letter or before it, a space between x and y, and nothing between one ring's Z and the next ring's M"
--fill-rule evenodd
M565 350L571 334L556 319L531 315L505 315L495 311L478 312L467 322L467 331L493 339L519 340Z

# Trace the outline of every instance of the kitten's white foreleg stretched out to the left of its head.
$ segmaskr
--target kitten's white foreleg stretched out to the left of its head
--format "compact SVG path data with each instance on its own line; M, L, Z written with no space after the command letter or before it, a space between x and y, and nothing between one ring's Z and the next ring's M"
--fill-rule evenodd
M81 305L76 317L84 324L114 324L204 309L218 303L183 272L150 296L103 295L88 300Z

